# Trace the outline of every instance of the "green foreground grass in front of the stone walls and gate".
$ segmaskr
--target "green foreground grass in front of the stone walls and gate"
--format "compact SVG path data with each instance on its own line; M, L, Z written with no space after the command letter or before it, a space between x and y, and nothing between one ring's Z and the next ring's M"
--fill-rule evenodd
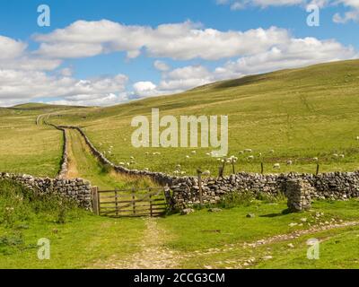
M356 200L317 202L309 213L284 214L283 202L252 201L220 213L110 219L75 207L64 215L54 198L29 201L4 181L0 188L1 268L359 267ZM294 232L302 234L293 238ZM50 240L49 260L37 257L42 238ZM307 258L311 238L320 240L319 260Z

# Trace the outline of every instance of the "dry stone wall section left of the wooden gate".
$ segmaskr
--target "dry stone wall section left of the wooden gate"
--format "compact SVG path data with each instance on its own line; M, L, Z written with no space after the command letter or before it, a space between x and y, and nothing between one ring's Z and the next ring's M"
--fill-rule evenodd
M92 210L91 185L81 178L34 178L28 175L0 173L0 179L9 179L31 189L35 194L57 194L73 199L80 207Z

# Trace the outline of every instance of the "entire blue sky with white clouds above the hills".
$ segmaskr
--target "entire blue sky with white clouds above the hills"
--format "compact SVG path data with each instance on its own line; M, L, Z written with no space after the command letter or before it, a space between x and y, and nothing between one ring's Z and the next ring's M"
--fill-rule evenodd
M357 58L359 0L314 1L319 27L307 25L312 2L2 1L0 105L110 105ZM39 4L50 8L50 27L38 25Z

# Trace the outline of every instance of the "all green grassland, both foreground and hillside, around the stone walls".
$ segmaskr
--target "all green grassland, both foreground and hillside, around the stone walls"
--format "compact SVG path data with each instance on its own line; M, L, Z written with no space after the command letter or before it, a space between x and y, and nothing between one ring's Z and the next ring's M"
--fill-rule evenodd
M359 160L359 61L214 83L182 94L109 108L26 104L0 109L0 171L54 177L60 169L62 133L36 125L40 115L82 126L110 161L187 174L198 167L217 172L210 149L135 149L132 117L229 115L230 154L237 170L265 172L357 170ZM85 178L101 189L153 187L147 179L115 174L93 158L83 138L67 130L68 178ZM251 153L240 153L252 149ZM192 153L196 150L197 153ZM274 150L274 152L269 152ZM146 155L146 152L149 154ZM153 155L153 152L161 152ZM344 154L344 158L333 154ZM189 159L186 156L189 155ZM249 161L247 157L254 156ZM285 162L293 161L292 166ZM273 170L274 163L281 170ZM226 170L228 174L229 168ZM0 182L0 268L358 268L359 201L315 202L308 213L282 213L285 202L250 200L210 213L157 219L98 217L57 198L26 197L26 190ZM66 205L67 206L67 205ZM247 214L254 214L248 218ZM37 242L50 239L50 260L39 260ZM320 260L307 259L307 239L320 240Z

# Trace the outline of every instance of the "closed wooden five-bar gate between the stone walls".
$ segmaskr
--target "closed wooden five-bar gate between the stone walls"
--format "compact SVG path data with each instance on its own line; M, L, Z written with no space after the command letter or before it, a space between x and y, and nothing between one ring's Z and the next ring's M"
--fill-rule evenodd
M94 213L109 217L162 216L167 211L163 187L99 190L92 188Z

